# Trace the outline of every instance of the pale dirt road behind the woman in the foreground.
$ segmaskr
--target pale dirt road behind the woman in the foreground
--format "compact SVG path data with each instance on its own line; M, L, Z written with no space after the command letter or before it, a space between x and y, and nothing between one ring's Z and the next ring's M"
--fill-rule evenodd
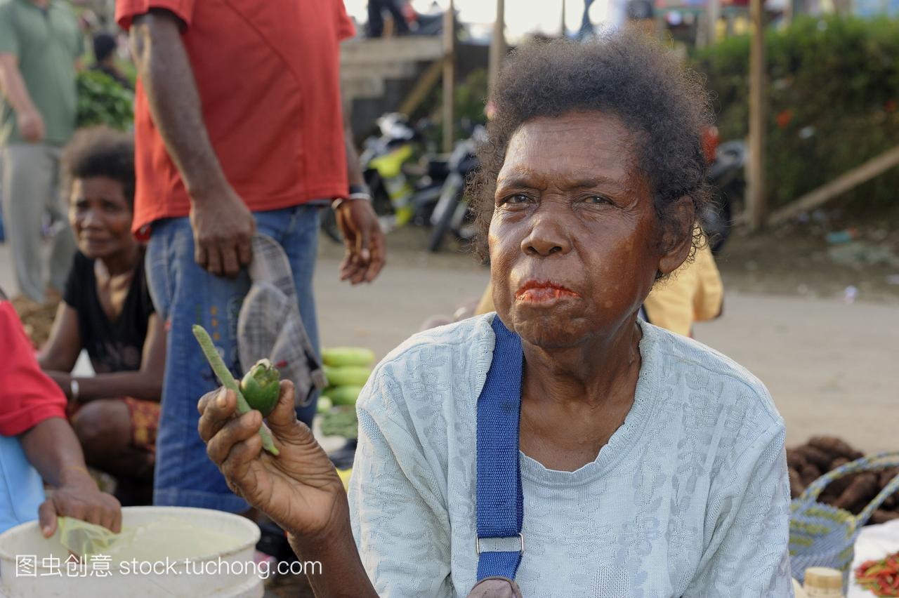
M857 225L859 240L875 243L871 235L879 235L897 251L899 228L890 225ZM734 236L719 259L724 315L699 324L696 337L768 386L787 421L788 444L830 434L865 452L899 449L899 284L887 278L899 275L899 264L834 262L823 235L808 225ZM355 288L336 279L340 247L320 245L315 284L325 346L370 347L384 356L429 316L450 314L484 290L488 270L470 255L427 254L420 230L388 239L382 276ZM851 303L847 286L857 289Z

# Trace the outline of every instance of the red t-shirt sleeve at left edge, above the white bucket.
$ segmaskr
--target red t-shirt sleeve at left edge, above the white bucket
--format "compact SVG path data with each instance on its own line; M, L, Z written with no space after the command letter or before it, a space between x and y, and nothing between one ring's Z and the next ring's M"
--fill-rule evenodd
M49 418L66 418L66 395L40 371L13 303L0 301L0 435L20 435Z

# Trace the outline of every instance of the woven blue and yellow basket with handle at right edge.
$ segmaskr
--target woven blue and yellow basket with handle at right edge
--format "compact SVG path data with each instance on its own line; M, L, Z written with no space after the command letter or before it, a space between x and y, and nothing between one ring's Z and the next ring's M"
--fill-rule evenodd
M793 576L799 582L805 581L808 567L832 567L842 572L843 594L846 594L856 538L877 507L899 490L899 475L891 479L858 515L819 503L818 497L835 479L859 471L883 470L897 465L899 451L863 457L825 473L793 500L790 504L789 555Z

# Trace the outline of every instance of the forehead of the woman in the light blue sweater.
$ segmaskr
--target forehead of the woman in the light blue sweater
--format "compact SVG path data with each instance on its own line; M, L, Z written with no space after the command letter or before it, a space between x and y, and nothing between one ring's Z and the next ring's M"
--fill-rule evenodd
M622 181L634 163L634 139L619 118L600 112L532 119L512 135L497 182Z

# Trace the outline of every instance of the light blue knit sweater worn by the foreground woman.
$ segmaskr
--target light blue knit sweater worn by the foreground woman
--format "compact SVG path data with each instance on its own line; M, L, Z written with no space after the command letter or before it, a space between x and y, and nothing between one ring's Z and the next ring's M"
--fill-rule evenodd
M378 594L476 583L476 401L494 347L473 318L407 340L357 404L353 533ZM784 423L740 365L642 323L634 406L595 462L521 454L525 598L792 595Z

